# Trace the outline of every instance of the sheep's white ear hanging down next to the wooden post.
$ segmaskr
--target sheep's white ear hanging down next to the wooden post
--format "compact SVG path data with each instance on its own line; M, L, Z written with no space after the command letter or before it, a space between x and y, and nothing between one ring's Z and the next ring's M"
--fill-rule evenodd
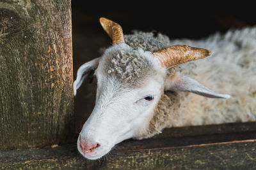
M76 96L76 90L82 85L83 81L88 78L90 72L93 69L96 69L99 65L99 57L89 62L84 63L82 66L79 67L77 70L76 80L74 81L74 95Z

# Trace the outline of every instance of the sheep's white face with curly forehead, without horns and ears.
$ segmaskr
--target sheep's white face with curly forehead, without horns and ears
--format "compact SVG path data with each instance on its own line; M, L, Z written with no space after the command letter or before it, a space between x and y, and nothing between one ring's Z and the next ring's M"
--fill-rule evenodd
M116 55L120 59L116 59ZM127 61L121 65L115 63L123 57ZM159 66L150 52L121 44L106 50L95 75L95 108L77 140L79 152L88 159L99 159L116 143L136 138L147 131L154 108L163 93L165 69ZM93 149L86 148L90 152L83 152L81 141L89 146L99 145Z

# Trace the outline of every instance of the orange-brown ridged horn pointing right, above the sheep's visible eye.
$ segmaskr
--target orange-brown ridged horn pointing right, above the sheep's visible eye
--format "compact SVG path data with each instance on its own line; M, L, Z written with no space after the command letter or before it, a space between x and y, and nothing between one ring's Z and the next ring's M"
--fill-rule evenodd
M162 67L174 67L191 60L203 59L211 55L211 51L187 45L175 45L153 53Z

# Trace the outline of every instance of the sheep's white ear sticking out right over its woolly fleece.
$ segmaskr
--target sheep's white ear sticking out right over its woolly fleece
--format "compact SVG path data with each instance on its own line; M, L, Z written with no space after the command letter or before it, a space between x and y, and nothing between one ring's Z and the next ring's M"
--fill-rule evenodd
M167 78L166 83L164 85L164 90L193 92L200 96L211 98L228 99L230 97L228 94L218 94L212 92L212 90L200 84L198 81L193 80L188 76L182 76L180 74L175 74L174 76L170 76L169 78Z

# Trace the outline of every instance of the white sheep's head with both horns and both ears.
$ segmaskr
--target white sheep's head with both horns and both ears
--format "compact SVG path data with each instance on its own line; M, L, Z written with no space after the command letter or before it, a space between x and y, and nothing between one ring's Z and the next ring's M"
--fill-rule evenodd
M77 148L87 159L99 159L125 139L143 138L166 90L229 97L172 71L172 67L179 64L207 57L211 54L209 50L177 45L149 52L127 45L122 27L115 22L100 18L100 24L111 37L113 46L106 49L102 57L79 67L74 81L76 95L88 73L95 69L95 108L77 139ZM168 74L170 70L172 74Z

